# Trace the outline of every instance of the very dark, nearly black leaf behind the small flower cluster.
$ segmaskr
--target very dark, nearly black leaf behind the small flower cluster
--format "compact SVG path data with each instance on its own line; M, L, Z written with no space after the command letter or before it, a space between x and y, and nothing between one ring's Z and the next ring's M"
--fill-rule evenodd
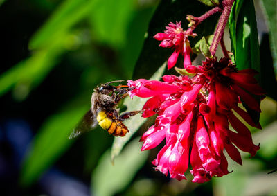
M195 9L197 8L197 9ZM208 11L210 7L205 6L199 1L190 0L163 0L160 1L154 15L150 21L148 33L145 34L145 42L139 56L133 73L133 79L150 78L151 75L170 57L173 51L169 48L159 48L159 42L153 38L157 33L166 30L166 26L170 22L181 21L182 28L188 28L186 15L200 16ZM195 33L197 37L190 37L190 44L195 45L203 36L213 34L215 25L217 24L218 15L209 17L202 24L197 26ZM180 62L182 57L179 56ZM178 64L178 62L177 62ZM182 62L180 63L182 64ZM172 69L174 71L174 69Z

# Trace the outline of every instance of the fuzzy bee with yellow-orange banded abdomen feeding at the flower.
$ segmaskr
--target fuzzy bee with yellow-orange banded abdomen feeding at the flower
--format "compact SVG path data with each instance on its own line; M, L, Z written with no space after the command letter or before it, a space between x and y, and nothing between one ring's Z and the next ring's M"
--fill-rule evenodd
M107 130L114 136L125 136L129 132L123 124L127 118L139 114L141 111L132 111L119 114L117 105L119 101L128 96L129 88L127 85L113 86L111 83L123 82L116 80L101 84L96 87L91 96L91 109L84 115L80 123L75 127L69 139L73 139L84 132L92 130L97 125Z

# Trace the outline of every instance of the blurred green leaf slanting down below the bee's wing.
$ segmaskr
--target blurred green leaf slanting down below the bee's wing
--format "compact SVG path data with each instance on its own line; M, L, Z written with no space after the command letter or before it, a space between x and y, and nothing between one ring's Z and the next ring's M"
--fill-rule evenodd
M49 168L73 142L69 133L78 123L87 107L74 107L48 118L33 139L20 175L22 186L30 186Z

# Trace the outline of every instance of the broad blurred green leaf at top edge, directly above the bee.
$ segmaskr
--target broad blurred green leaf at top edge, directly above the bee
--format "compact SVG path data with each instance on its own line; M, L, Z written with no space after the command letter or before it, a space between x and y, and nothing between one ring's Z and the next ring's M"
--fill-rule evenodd
M127 25L133 15L134 0L97 1L90 15L92 30L99 42L105 42L115 48L125 44Z

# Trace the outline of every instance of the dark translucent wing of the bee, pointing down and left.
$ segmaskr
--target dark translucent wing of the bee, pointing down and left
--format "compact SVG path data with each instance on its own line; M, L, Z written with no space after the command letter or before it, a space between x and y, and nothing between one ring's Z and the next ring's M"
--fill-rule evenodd
M98 121L96 120L96 116L91 112L91 109L89 109L89 111L84 114L84 117L82 117L82 120L74 128L73 132L69 136L69 139L76 138L84 132L89 132L97 125Z

